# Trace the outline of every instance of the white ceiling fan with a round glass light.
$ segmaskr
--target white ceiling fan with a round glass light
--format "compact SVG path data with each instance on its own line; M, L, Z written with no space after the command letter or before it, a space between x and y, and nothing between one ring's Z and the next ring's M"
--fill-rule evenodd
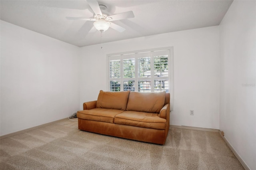
M117 30L118 32L124 32L125 28L118 26L111 21L134 18L134 14L132 11L109 16L106 6L99 5L96 0L87 0L87 2L89 6L92 8L92 11L94 12L94 18L77 18L77 17L66 17L66 18L68 20L94 21L94 27L100 32L104 32L108 30L109 27L113 28L114 30Z

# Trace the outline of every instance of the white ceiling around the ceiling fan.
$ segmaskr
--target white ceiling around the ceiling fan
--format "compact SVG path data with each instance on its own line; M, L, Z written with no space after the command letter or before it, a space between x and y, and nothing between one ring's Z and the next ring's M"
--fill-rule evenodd
M110 15L133 11L134 18L113 21L126 30L109 28L102 42L113 42L167 32L217 26L232 0L98 0ZM86 0L1 0L1 20L78 47L100 43L100 32L88 33L92 18Z

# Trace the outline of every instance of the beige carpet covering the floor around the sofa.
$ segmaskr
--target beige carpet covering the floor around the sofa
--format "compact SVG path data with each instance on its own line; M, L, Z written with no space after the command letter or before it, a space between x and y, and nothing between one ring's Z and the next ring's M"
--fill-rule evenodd
M165 145L78 130L69 119L0 139L1 170L241 170L218 132L171 128Z

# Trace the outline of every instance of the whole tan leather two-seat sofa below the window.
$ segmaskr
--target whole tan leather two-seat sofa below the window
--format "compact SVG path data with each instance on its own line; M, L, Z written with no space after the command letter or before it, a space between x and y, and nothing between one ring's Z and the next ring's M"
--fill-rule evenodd
M77 112L80 130L165 144L170 93L100 91L97 101L85 102L83 107Z

